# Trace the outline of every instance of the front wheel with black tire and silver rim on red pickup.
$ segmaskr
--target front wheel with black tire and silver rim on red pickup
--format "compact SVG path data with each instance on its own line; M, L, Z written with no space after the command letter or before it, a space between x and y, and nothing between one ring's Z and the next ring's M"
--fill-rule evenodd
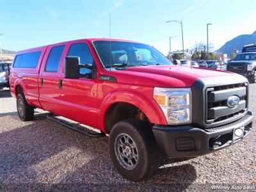
M159 154L152 129L136 119L114 125L109 153L118 173L132 181L147 179L158 168Z

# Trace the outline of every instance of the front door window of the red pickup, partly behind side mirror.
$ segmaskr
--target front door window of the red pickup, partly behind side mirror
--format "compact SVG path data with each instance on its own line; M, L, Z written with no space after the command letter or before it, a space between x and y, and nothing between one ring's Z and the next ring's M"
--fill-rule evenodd
M84 43L72 44L68 51L68 56L79 56L81 65L93 64L95 65L92 54L88 45ZM88 68L80 68L80 74L88 75L88 78L92 78L92 70Z

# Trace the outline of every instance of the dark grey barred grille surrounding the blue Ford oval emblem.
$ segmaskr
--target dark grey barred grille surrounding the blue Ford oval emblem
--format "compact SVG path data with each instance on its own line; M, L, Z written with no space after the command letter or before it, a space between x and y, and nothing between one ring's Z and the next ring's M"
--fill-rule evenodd
M232 95L237 95L240 101L236 108L228 108L227 99ZM248 84L228 84L214 86L205 90L205 123L225 122L231 118L243 116L248 108L247 102Z

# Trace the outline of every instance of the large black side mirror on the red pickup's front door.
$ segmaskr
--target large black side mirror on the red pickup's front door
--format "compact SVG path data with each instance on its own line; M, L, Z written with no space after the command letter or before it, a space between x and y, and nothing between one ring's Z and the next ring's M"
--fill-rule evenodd
M92 69L92 64L80 64L80 58L77 56L66 56L64 62L64 77L68 79L78 79L84 77L83 74L79 74L80 68Z

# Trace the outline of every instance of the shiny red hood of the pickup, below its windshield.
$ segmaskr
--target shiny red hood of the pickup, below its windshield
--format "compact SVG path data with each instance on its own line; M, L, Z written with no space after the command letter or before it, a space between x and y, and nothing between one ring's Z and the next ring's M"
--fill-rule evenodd
M177 65L129 67L125 70L109 71L108 75L115 77L120 83L160 87L189 87L203 77L212 77L214 81L218 76L239 76L227 71Z

